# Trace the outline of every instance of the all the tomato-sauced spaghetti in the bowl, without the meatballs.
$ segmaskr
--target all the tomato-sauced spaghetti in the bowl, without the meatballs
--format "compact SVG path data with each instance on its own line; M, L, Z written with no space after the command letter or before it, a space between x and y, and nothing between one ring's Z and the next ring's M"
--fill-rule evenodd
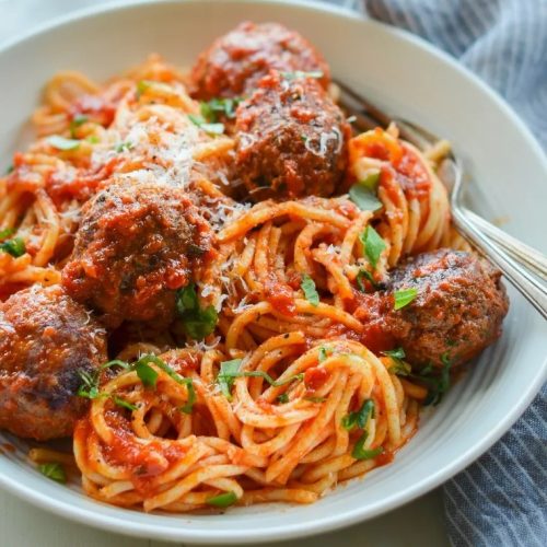
M349 195L251 207L224 191L234 140L198 118L184 83L158 57L104 88L51 80L40 138L0 178L0 298L60 282L81 207L113 181L184 187L216 242L185 313L216 329L190 345L188 329L132 325L142 339L83 379L83 488L147 511L313 502L416 430L427 391L368 349L356 310L406 256L462 247L434 174L443 146L427 156L395 126L369 131L349 141Z

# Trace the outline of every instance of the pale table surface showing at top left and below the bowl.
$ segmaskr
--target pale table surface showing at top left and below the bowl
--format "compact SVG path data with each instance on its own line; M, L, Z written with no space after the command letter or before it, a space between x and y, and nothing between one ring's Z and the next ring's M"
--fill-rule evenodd
M38 23L97 0L0 0L0 43ZM366 488L366 482L363 482ZM275 539L275 538L272 538ZM77 524L47 513L0 490L0 545L2 547L162 547L172 544L136 539ZM183 544L181 544L183 545ZM186 544L189 545L189 544ZM363 524L319 537L286 542L281 547L442 547L449 545L441 491Z

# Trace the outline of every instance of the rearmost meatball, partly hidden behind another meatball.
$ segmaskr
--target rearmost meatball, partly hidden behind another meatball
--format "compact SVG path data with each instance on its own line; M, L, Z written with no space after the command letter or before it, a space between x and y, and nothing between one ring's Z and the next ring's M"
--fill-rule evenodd
M237 97L251 92L270 69L321 72L322 85L327 88L330 82L325 59L300 34L277 23L246 22L199 56L190 89L200 100Z

